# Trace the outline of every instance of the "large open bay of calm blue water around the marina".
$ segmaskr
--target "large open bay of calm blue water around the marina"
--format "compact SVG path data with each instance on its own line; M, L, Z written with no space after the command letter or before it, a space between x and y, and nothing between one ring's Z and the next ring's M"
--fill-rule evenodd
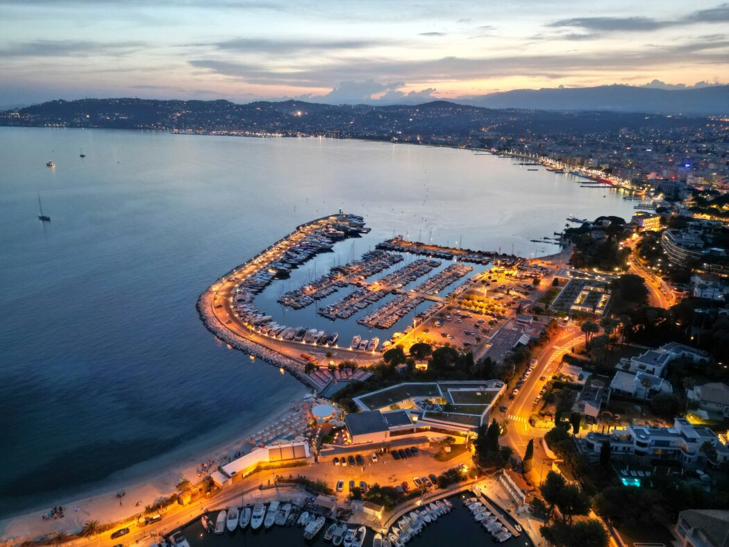
M52 222L36 220L36 193ZM529 239L570 214L632 214L602 194L445 148L0 128L0 513L144 476L305 392L218 344L195 311L212 280L295 225L364 215L356 256L393 232L547 254ZM337 251L348 260L351 241ZM288 288L261 296L270 311Z

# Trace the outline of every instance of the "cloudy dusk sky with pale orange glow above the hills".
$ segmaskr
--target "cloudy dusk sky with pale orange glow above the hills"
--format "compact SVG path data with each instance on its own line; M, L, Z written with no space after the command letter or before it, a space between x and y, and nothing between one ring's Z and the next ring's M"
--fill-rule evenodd
M0 105L729 82L729 3L0 0Z

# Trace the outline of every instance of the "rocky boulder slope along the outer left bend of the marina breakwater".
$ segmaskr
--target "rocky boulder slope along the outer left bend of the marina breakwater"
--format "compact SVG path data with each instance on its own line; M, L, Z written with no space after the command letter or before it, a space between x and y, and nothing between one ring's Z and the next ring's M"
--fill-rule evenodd
M242 336L232 333L230 330L225 328L224 325L221 325L219 319L215 317L211 311L212 302L210 292L204 292L203 295L200 295L197 307L198 314L200 315L203 325L205 325L206 328L220 341L225 342L225 344L228 344L234 349L238 349L241 352L245 352L253 357L257 357L260 360L268 362L271 365L283 368L297 380L305 384L306 387L313 387L315 389L319 387L304 372L303 362L276 352L275 350L263 346L262 344L258 344L248 338L243 338Z

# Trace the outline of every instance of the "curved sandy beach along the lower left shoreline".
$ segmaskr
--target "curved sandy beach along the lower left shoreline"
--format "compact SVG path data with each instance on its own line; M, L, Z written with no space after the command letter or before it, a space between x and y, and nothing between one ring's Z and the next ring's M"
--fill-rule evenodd
M50 511L48 507L3 519L0 521L0 540L12 545L55 532L72 534L91 520L105 524L133 518L144 512L146 505L151 505L161 497L168 497L176 492L176 485L184 478L195 484L210 470L215 470L218 465L235 459L236 454L250 451L253 445L246 441L247 438L282 419L297 414L304 400L305 397L301 397L292 401L286 410L276 416L253 424L241 432L235 441L228 441L216 449L201 451L196 457L188 457L176 464L163 468L156 466L150 468L147 478L134 484L123 483L124 474L131 471L125 470L114 474L101 484L90 486L86 495L58 500L56 504L63 506L64 509L62 519L44 519L43 516ZM120 500L117 494L121 492L124 492L124 496Z

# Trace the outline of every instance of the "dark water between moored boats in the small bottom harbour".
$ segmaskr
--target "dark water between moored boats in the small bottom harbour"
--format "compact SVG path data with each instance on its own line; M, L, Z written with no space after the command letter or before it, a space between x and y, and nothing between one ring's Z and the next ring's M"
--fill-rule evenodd
M510 538L504 543L499 543L486 532L480 524L473 519L468 508L464 507L459 497L451 498L453 511L440 516L437 521L428 524L420 535L408 542L408 546L431 547L431 546L452 546L455 545L455 536L461 545L504 545L507 547L532 546L529 538L522 534L519 538ZM217 513L212 513L215 519ZM191 547L230 547L230 546L265 546L265 545L287 545L287 546L324 546L331 545L324 540L329 522L321 529L319 535L311 542L304 540L303 529L298 527L274 526L268 530L253 530L250 527L241 531L236 529L232 534L227 530L222 535L214 535L203 532L200 520L196 519L190 526L182 529L184 537L190 542ZM375 532L367 529L364 538L364 547L372 546Z

